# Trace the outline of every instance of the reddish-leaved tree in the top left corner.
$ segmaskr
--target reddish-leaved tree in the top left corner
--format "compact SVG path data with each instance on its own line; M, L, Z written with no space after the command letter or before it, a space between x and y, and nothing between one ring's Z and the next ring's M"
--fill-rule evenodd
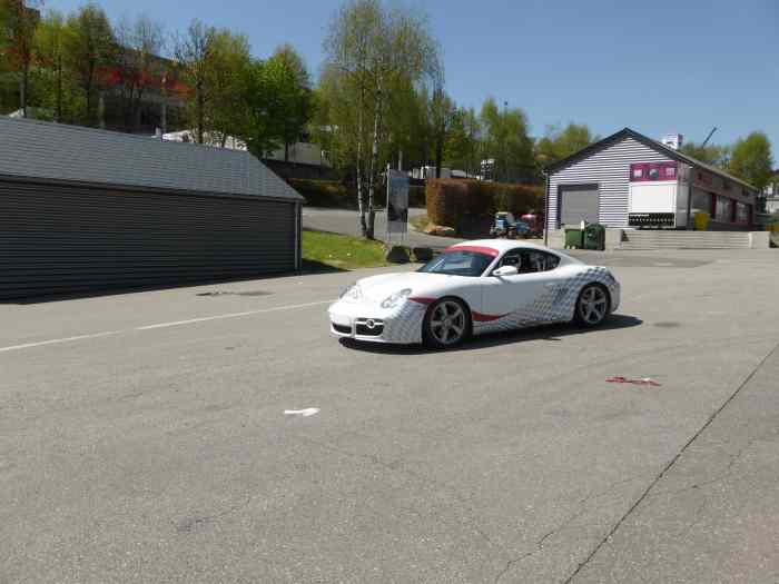
M29 3L29 6L28 6ZM27 117L33 38L40 12L39 2L0 0L0 50L3 61L19 80L19 108Z

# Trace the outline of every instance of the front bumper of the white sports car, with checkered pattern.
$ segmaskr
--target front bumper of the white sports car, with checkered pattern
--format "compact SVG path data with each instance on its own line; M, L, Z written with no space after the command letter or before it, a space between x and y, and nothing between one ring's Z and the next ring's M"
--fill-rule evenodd
M331 333L336 337L412 345L422 343L425 310L425 305L413 300L406 300L393 309L367 303L338 300L327 313Z

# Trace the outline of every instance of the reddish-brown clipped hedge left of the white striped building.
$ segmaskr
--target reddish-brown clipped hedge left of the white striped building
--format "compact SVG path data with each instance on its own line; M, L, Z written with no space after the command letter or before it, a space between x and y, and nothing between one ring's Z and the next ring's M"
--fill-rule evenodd
M530 210L540 211L543 206L543 187L481 180L427 180L427 217L436 225L455 229L466 216L482 217L496 211L519 216Z

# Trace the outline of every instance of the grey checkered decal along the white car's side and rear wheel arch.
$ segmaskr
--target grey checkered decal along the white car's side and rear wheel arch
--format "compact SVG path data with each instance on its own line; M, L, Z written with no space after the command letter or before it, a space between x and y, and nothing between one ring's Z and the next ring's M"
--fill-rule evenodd
M474 333L494 333L511 330L545 323L568 323L573 318L576 299L582 288L591 283L603 284L611 294L611 309L619 305L619 288L609 277L609 270L601 267L588 267L568 280L544 291L534 303L510 313L496 320L474 323Z

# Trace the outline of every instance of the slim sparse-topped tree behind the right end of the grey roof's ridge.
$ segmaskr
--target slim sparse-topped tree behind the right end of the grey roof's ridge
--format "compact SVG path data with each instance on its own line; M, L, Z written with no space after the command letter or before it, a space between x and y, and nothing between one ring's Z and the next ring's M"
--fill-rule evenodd
M215 28L206 27L196 19L189 24L186 34L176 39L174 50L185 82L195 91L195 100L188 109L198 143L203 143L206 131L206 85L210 75L215 37Z

